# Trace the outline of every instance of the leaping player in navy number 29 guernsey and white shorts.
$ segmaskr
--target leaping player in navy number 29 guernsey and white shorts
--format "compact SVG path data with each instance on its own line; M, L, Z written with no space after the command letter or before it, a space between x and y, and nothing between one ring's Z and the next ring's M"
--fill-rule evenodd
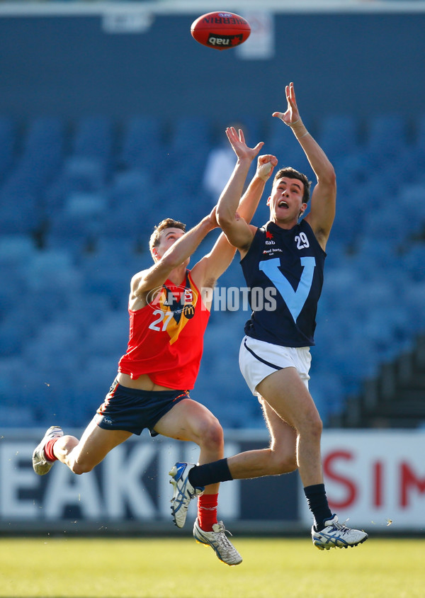
M302 123L292 83L286 86L286 99L285 113L273 116L293 130L317 177L310 213L300 220L310 198L310 181L305 174L284 168L276 174L268 198L269 222L257 228L239 217L236 210L250 160L243 132L234 128L227 129L227 137L238 157L239 184L225 188L217 206L220 227L241 254L246 285L256 288L257 294L263 290L263 308L255 310L251 302L254 311L246 322L239 365L251 392L259 397L271 444L203 466L187 464L186 476L189 485L202 486L212 480L298 469L313 514L314 546L346 548L365 541L368 534L340 524L329 509L320 454L322 421L308 390L325 247L335 215L336 176ZM270 166L273 171L271 162ZM267 304L267 296L273 297L273 304Z

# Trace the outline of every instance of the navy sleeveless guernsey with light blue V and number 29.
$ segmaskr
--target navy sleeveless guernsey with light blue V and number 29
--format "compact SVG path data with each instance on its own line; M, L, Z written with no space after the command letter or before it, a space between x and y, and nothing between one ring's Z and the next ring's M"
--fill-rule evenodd
M253 310L245 334L281 346L314 345L325 257L305 220L289 230L274 222L257 229L240 262Z

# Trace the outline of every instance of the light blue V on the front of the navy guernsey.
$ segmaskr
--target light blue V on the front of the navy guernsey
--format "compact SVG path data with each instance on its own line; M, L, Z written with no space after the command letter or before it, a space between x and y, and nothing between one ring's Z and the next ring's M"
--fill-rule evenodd
M276 286L295 322L307 301L310 288L312 288L316 259L310 256L302 257L301 265L303 266L303 269L300 282L298 283L297 290L293 290L288 279L285 278L283 273L279 270L280 259L278 257L260 261L259 263L259 269L262 270L267 278L270 278L273 285Z

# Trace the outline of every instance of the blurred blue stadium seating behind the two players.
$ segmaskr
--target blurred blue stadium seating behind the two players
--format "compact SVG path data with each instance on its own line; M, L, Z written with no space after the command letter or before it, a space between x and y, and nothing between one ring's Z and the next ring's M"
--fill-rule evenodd
M410 138L397 115L370 117L363 136L346 115L317 123L338 178L310 380L325 425L425 331L425 118L414 124ZM278 120L248 126L279 166L311 173L302 150L283 143ZM94 115L72 126L37 117L18 132L0 118L4 425L60 418L82 426L101 403L128 341L130 278L152 263L154 224L171 216L192 225L209 209L201 179L212 130L208 119L136 115L115 127ZM401 187L395 171L406 173ZM254 222L266 218L262 202ZM205 239L192 264L216 237ZM261 427L237 363L249 311L225 305L226 289L244 286L238 261L217 286L193 397L224 427Z

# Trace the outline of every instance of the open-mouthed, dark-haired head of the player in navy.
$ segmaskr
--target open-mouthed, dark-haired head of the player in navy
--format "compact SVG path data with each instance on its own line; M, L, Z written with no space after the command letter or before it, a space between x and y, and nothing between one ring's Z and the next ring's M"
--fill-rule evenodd
M300 212L307 208L302 202L304 184L298 179L283 176L273 184L267 205L270 207L270 218L273 222L293 222L300 217Z

